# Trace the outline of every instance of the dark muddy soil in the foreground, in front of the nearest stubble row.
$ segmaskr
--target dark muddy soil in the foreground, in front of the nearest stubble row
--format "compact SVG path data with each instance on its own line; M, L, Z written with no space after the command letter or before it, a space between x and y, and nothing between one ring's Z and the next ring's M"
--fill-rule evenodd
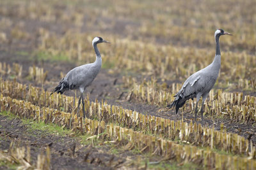
M32 164L36 163L37 155L45 152L47 146L51 148L52 169L115 169L122 167L126 161L125 155L120 157L109 153L108 146L83 146L79 138L33 130L19 118L10 119L0 115L0 122L0 149L8 150L12 141L15 145L30 146ZM4 169L4 166L0 169Z

